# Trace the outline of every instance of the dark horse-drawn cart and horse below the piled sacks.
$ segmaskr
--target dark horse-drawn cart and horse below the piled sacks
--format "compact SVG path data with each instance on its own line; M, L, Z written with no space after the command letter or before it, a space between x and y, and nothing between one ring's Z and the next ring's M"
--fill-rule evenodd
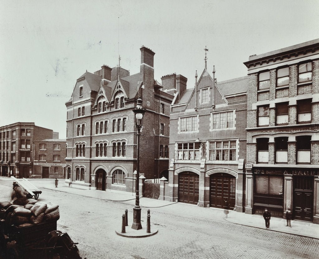
M56 220L30 226L8 225L0 219L1 259L82 259L77 244L56 230Z

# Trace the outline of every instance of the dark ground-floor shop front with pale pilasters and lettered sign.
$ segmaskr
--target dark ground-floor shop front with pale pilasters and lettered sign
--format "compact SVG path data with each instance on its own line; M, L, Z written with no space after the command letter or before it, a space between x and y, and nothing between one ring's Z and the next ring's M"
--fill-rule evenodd
M263 214L268 208L273 217L283 218L290 208L293 219L319 223L319 169L251 165L248 174L246 213Z

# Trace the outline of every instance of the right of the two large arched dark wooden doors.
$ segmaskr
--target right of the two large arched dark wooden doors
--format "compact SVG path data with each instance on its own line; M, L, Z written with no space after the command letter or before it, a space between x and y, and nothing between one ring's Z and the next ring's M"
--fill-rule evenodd
M224 200L227 199L229 207L235 207L236 178L230 174L212 174L210 177L210 206L224 208Z

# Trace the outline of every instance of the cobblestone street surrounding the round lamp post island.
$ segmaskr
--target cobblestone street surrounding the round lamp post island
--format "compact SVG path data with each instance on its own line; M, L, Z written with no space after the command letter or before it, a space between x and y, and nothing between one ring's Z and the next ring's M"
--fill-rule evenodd
M12 182L0 184L0 200L10 199ZM187 211L195 205L181 203L150 208L151 223L159 230L157 234L146 238L121 237L115 229L121 229L125 209L129 211L128 227L131 227L131 204L41 190L39 201L60 205L57 229L79 243L83 258L318 258L318 239L235 225L223 219L222 210L218 211L220 217L209 218L207 213L203 217L194 216ZM140 231L145 232L146 212L147 208L142 208Z

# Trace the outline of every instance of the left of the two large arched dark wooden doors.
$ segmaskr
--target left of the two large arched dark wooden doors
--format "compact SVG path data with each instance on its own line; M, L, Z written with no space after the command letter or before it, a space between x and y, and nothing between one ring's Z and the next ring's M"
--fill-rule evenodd
M178 201L197 204L199 199L199 175L192 172L178 174Z

